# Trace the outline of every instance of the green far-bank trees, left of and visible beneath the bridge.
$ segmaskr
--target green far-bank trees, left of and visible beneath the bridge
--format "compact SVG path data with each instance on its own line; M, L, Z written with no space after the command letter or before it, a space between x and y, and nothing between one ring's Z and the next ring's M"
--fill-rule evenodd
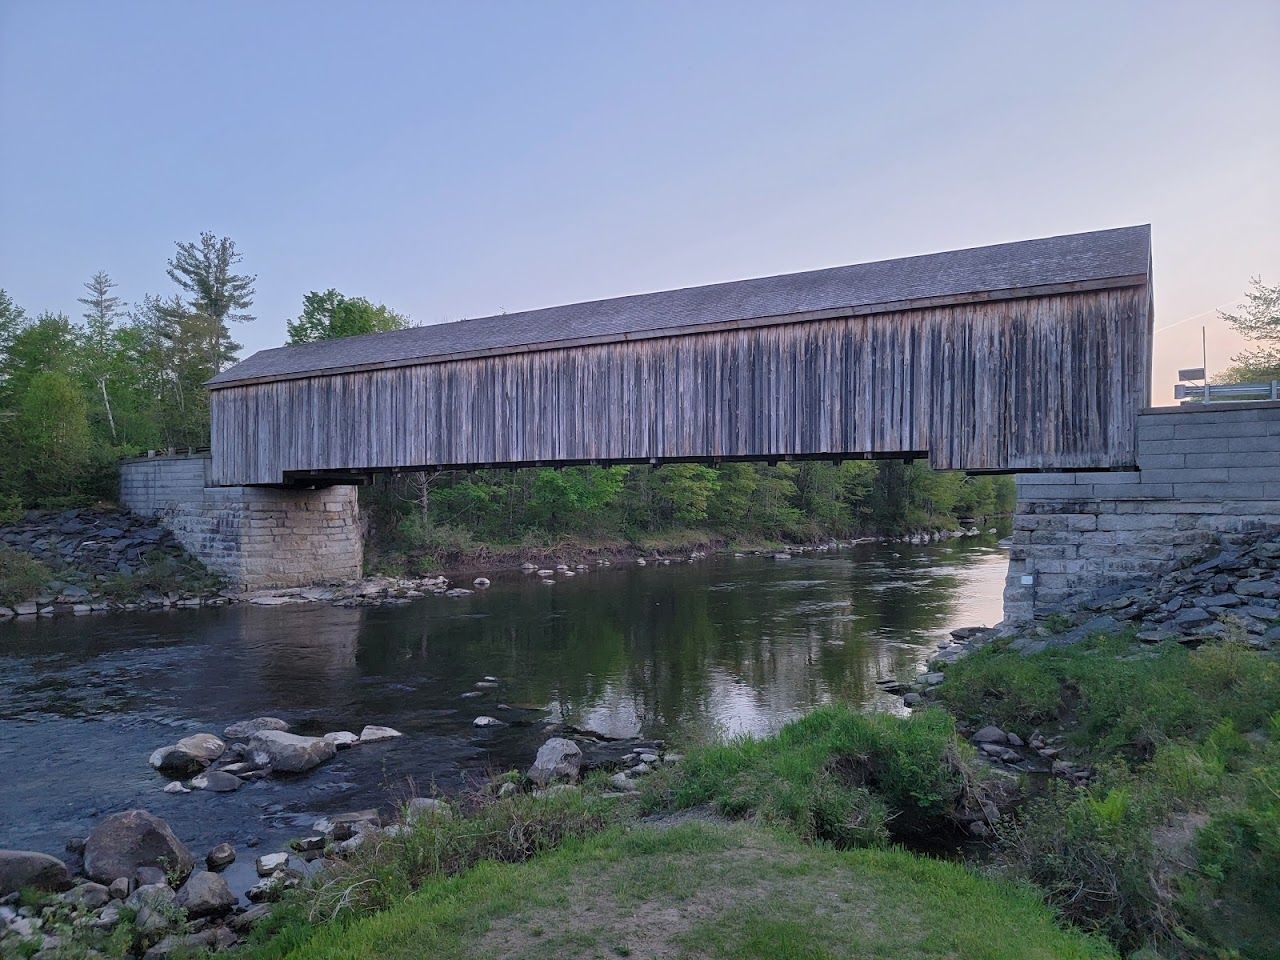
M116 462L209 443L205 381L233 364L256 276L234 241L202 233L166 264L173 287L125 305L106 273L79 317L29 315L0 289L0 502L60 508L115 494ZM311 291L291 343L396 330L406 315L337 289ZM381 477L362 497L385 556L558 536L636 539L698 530L810 539L951 526L1011 508L1009 479L924 463L849 461L444 472Z

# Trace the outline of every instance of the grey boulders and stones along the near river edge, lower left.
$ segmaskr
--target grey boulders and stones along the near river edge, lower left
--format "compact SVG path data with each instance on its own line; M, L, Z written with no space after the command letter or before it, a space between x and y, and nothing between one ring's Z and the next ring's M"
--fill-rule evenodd
M305 774L339 749L367 749L401 736L389 727L366 726L358 735L305 737L289 733L279 718L256 717L230 724L221 737L195 733L160 748L150 764L173 777L165 792L230 792L259 777ZM591 771L611 774L603 796L622 799L639 790L641 777L678 760L660 741L564 730L541 745L524 776L492 780L462 803L573 791ZM197 856L164 819L145 809L123 810L102 819L87 837L69 838L64 859L0 850L0 954L55 957L81 950L77 955L83 955L125 918L132 918L132 928L124 948L142 960L224 950L303 878L332 869L379 836L453 815L453 801L413 796L392 817L364 809L317 819L280 850L246 851L220 842ZM237 890L227 876L242 858L252 860L255 879ZM45 896L32 902L32 891Z

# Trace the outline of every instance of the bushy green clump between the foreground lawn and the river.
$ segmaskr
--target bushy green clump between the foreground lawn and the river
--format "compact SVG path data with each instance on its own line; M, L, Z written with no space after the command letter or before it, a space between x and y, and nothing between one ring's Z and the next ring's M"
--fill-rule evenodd
M946 832L975 790L968 748L941 710L911 717L823 707L767 739L691 750L650 805L714 804L810 840L874 846Z

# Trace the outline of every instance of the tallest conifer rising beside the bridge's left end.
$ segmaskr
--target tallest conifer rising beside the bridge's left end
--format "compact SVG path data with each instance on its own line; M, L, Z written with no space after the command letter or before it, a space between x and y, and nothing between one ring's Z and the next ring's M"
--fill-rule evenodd
M179 297L161 306L163 316L204 353L210 376L234 362L239 344L232 339L228 321L248 323L244 312L253 303L256 276L233 273L241 261L230 237L215 237L207 230L197 243L178 243L169 261L169 279L178 284ZM206 378L207 379L207 378Z

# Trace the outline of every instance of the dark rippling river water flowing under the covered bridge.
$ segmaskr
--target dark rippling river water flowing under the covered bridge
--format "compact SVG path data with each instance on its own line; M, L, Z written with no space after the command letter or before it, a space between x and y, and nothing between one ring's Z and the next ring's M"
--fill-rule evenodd
M1006 567L992 536L618 564L554 586L512 572L402 607L0 625L0 847L59 854L143 806L197 856L223 840L265 851L320 814L525 768L548 722L687 742L831 700L900 709L876 681L914 676L954 627L998 621ZM486 675L498 690L461 696ZM264 714L300 733L379 723L404 737L233 794L161 792L155 748ZM480 714L522 722L476 730Z

